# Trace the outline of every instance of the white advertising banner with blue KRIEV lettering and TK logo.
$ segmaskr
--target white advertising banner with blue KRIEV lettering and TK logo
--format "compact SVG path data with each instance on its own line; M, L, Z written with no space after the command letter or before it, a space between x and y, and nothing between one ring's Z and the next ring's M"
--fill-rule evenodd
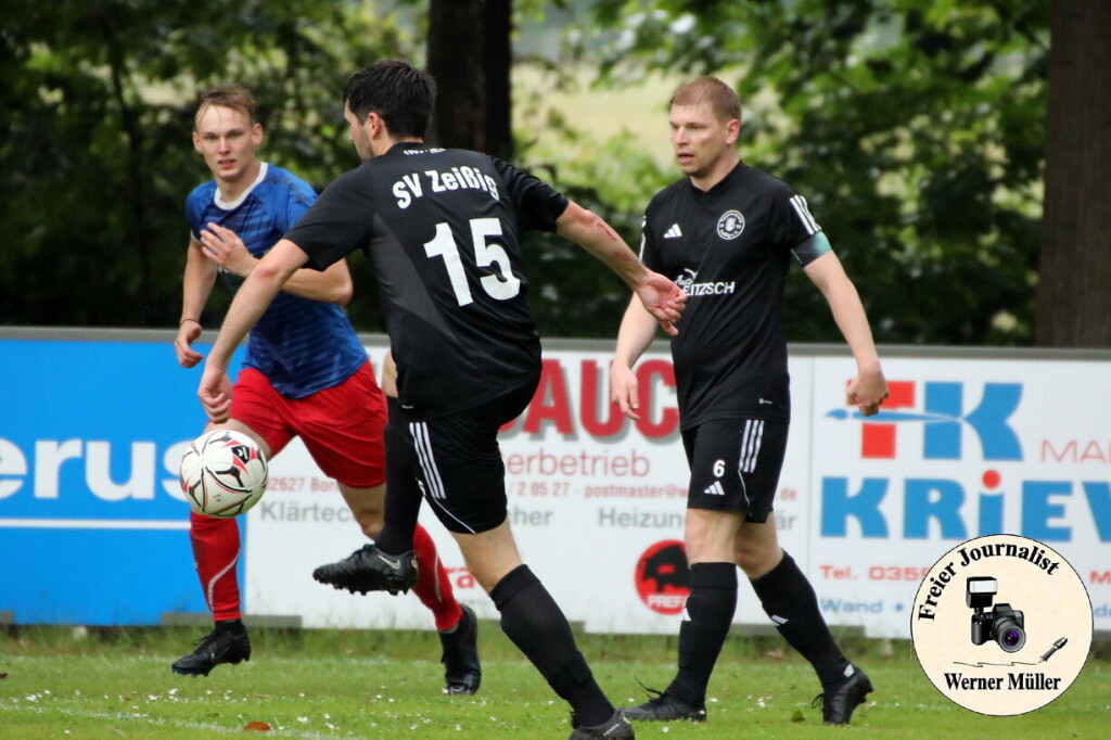
M868 420L835 402L853 368L814 359L809 574L827 620L909 637L930 567L1010 533L1064 556L1095 630L1111 629L1111 366L893 358L891 396Z

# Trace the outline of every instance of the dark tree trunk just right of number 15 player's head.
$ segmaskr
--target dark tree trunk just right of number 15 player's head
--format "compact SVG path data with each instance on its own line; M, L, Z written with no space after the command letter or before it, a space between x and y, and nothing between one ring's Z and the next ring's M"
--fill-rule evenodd
M428 70L439 90L428 140L512 154L512 0L432 0Z

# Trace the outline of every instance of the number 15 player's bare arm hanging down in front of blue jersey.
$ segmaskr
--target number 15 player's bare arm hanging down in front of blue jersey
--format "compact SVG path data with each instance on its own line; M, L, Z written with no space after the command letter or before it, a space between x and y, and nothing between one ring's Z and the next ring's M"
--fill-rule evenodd
M309 259L300 247L282 239L251 270L228 308L220 333L204 363L197 397L212 421L228 419L231 409L231 383L228 380L228 364L231 356L243 341L247 332L258 323L269 308L274 296L281 290L293 272Z

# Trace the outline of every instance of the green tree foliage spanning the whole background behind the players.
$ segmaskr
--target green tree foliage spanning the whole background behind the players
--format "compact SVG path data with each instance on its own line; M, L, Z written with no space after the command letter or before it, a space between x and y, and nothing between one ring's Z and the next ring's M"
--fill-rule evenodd
M506 22L509 0L487 4L486 12L498 13L491 48L503 61L502 36L513 33ZM376 10L383 6L0 6L0 166L7 176L0 216L11 234L0 250L0 323L176 323L182 202L208 177L189 142L196 94L217 81L252 87L267 130L261 156L319 189L356 164L338 100L347 76L381 57L419 61L432 33L423 13L451 18L451 0L394 0L390 12ZM572 6L588 22L553 69L598 69L603 84L660 72L713 73L738 89L742 157L808 198L880 341L1030 342L1049 3L517 0L512 19L532 21L546 9L571 12ZM466 28L440 31L442 44L477 43ZM483 36L492 32L483 29ZM464 82L452 82L452 90L470 89ZM669 93L660 90L661 117ZM508 90L498 94L503 107ZM469 118L481 124L481 112ZM592 141L568 120L557 116L546 124L580 149L593 148L595 158L538 160L518 131L519 161L637 240L648 197L677 172L620 137ZM483 136L491 134L473 140ZM503 139L503 131L493 137ZM552 238L528 242L526 258L542 333L612 336L628 293L597 261ZM374 292L370 271L358 262L352 320L360 330L379 330L378 301L366 299ZM837 340L818 291L792 272L790 338ZM209 323L220 316L217 302Z

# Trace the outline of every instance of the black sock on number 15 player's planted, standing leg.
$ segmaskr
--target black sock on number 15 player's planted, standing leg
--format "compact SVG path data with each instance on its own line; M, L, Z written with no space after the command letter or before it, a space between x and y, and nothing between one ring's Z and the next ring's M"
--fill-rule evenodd
M501 612L502 631L571 704L579 723L608 721L613 704L594 681L563 612L529 567L511 570L493 587L490 598Z

